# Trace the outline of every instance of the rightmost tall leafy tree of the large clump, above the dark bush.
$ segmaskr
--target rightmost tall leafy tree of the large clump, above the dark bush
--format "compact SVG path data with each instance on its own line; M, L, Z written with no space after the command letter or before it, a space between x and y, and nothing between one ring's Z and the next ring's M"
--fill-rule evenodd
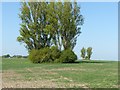
M73 49L76 45L77 37L80 35L83 16L77 3L64 2L61 9L60 35L64 49Z

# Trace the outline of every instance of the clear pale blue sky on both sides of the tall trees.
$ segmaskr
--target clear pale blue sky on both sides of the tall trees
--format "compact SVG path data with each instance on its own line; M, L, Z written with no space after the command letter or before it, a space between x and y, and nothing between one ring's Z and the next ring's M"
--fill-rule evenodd
M118 3L80 2L85 21L74 48L78 58L82 47L93 47L92 59L118 60ZM19 2L2 3L2 54L27 55L19 35ZM0 37L1 38L1 37Z

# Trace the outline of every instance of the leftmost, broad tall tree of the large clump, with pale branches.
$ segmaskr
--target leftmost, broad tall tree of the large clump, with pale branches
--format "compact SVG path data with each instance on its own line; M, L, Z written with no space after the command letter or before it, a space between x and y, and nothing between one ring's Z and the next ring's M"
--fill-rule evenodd
M45 29L47 25L46 10L47 2L22 2L21 13L22 20L19 42L25 43L28 50L41 49L50 46L51 36Z

